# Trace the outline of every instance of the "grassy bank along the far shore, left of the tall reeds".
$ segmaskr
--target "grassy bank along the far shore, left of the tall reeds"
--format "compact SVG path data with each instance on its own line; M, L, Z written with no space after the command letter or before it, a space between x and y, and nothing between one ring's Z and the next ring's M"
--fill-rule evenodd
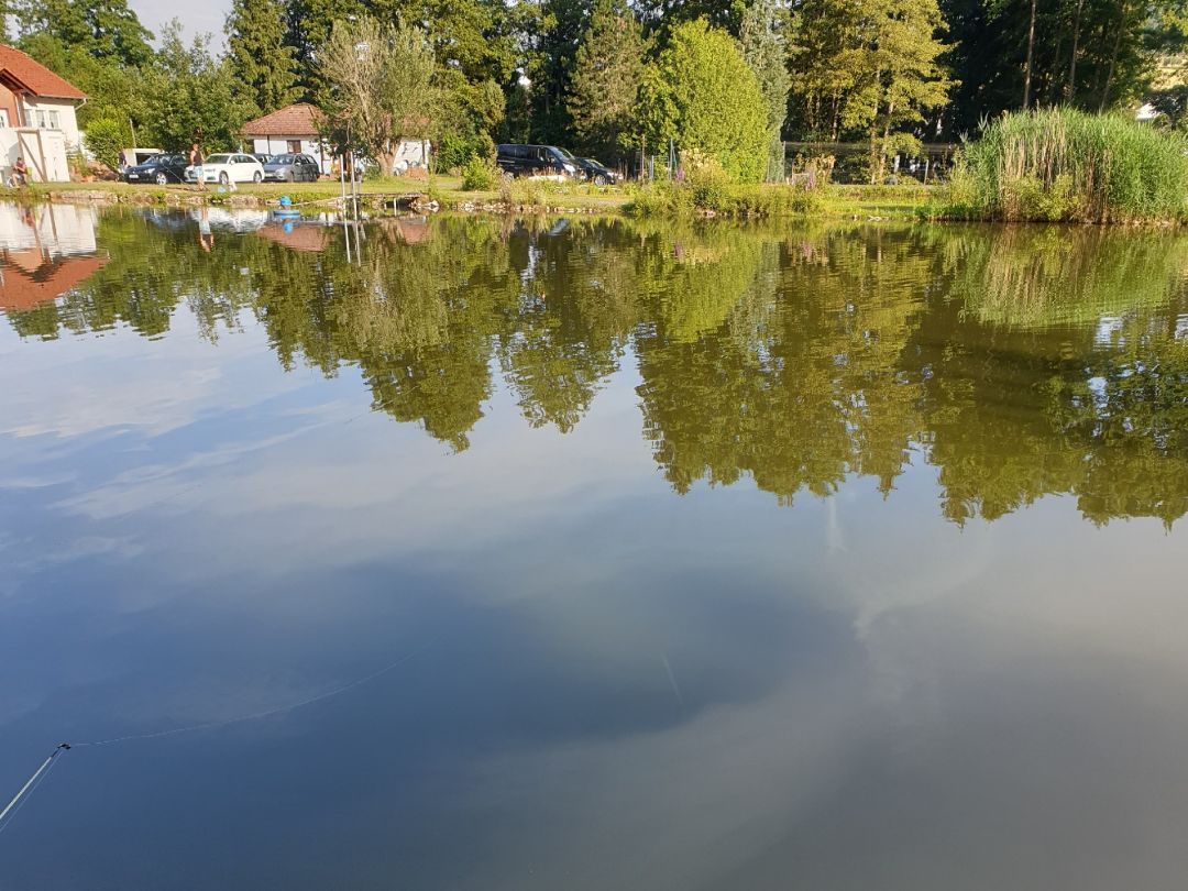
M784 185L728 185L723 190L689 201L688 189L666 184L598 188L584 184L517 179L495 189L467 190L460 177L412 179L393 177L366 181L359 187L365 206L391 208L393 200L416 197L422 207L436 202L442 209L479 213L573 213L639 216L707 215L836 216L847 219L916 219L935 191L933 187L829 185L804 192ZM240 185L234 192L200 190L194 185L132 185L128 183L52 183L26 189L0 189L0 198L96 204L138 204L147 207L201 207L267 209L283 195L314 210L333 208L341 195L339 183L261 183ZM700 206L699 206L700 202ZM712 203L710 203L712 202Z

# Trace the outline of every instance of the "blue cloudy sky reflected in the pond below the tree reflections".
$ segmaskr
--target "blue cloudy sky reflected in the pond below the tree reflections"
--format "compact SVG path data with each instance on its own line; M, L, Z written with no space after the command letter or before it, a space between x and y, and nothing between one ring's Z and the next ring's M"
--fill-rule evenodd
M415 657L71 752L4 887L1180 887L1182 524L677 497L630 352L451 454L244 324L0 326L0 790Z

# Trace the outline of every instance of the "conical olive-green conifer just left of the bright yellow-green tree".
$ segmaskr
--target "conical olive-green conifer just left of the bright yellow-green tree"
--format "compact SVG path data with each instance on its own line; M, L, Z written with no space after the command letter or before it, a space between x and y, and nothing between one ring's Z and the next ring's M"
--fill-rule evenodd
M618 154L630 139L646 44L625 0L598 0L577 48L567 107L592 153Z

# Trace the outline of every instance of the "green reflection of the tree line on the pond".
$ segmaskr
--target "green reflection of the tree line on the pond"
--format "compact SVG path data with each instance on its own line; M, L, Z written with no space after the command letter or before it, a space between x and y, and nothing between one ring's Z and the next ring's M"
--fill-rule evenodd
M1188 333L1175 233L665 228L438 219L368 227L346 261L244 235L202 252L144 217L112 261L13 314L29 336L254 315L282 364L361 369L374 406L453 449L500 375L533 426L580 423L626 358L680 492L750 476L790 503L937 468L946 517L1043 495L1094 522L1188 511ZM1178 327L1177 327L1178 326Z

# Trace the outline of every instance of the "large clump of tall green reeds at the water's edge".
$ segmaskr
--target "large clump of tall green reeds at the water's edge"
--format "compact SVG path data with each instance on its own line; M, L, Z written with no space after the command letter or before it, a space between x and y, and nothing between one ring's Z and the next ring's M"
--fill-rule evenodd
M1069 108L991 122L959 154L934 215L1049 222L1188 219L1188 139Z

